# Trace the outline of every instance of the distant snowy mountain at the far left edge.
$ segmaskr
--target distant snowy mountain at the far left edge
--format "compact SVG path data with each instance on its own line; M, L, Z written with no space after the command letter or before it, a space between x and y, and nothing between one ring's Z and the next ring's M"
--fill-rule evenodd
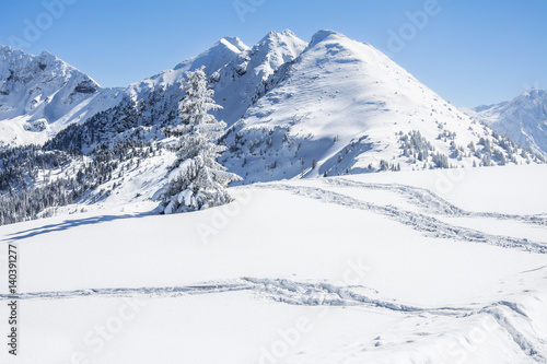
M120 90L102 89L47 51L0 45L0 146L44 143L119 99Z

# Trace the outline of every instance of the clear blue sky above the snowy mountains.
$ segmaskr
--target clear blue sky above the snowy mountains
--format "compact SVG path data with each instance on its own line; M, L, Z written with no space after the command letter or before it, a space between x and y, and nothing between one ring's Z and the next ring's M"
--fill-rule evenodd
M62 11L46 7L59 1L70 4ZM385 51L458 106L547 89L547 0L437 0L424 26L410 25L407 13L431 2L3 0L0 44L23 40L24 50L47 49L103 86L126 86L226 35L252 46L271 30L290 28L310 40L316 31L331 28ZM37 25L39 35L27 30ZM391 36L401 31L403 46Z

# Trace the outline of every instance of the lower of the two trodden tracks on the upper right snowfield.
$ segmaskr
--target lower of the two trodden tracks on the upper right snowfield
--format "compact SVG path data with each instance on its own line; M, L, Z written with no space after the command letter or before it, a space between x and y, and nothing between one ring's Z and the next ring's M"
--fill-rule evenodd
M349 184L348 186L351 186L351 184ZM388 219L395 220L401 224L408 225L416 231L423 232L427 236L431 237L441 237L469 243L485 243L504 248L517 248L531 253L547 253L547 244L545 243L531 242L527 238L487 234L477 230L452 225L422 213L398 209L393 206L377 206L319 187L291 186L277 183L256 184L253 185L253 187L288 191L296 196L317 199L326 203L334 203L351 209L372 211ZM420 193L416 195L418 196ZM434 196L433 193L431 195ZM439 199L439 201L443 201L439 197L437 197L437 199ZM449 202L446 202L446 204L451 207ZM456 211L459 210L456 207L454 207L454 209L456 209Z

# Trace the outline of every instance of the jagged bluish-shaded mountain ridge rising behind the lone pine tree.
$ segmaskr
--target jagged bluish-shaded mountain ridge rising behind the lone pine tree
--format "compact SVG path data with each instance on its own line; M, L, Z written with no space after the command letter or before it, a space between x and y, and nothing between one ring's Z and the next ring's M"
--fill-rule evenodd
M246 108L265 93L268 78L282 64L294 60L306 43L292 32L270 32L253 48L236 37L225 37L197 57L141 82L131 84L119 105L96 114L89 122L68 128L51 146L89 152L101 142L132 138L136 130L144 138L162 138L160 128L176 119L176 107L184 95L181 83L187 71L205 67L223 108L216 116L233 125Z

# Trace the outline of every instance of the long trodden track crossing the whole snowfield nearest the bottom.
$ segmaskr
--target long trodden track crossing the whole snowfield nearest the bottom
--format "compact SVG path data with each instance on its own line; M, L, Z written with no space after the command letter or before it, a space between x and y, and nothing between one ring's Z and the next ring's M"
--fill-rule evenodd
M310 307L363 307L368 309L428 317L429 319L456 319L466 320L472 316L493 319L488 330L502 329L521 351L531 360L545 363L543 348L545 342L533 334L533 325L516 302L499 301L478 307L419 307L397 303L392 300L374 298L362 292L371 292L364 286L340 286L326 282L298 282L287 279L258 279L241 278L202 284L164 287L136 287L136 289L90 289L61 292L34 292L22 293L19 300L67 300L83 297L183 297L188 295L219 294L230 292L249 292L268 301L290 305ZM0 301L13 300L0 294ZM323 315L323 314L321 314ZM319 315L319 317L322 317ZM479 321L478 321L479 322ZM487 322L485 319L481 322ZM475 326L475 330L485 327ZM469 331L470 332L470 331ZM486 334L485 331L479 331ZM504 334L505 334L504 333ZM470 333L469 333L470 334ZM482 338L482 337L481 337Z

